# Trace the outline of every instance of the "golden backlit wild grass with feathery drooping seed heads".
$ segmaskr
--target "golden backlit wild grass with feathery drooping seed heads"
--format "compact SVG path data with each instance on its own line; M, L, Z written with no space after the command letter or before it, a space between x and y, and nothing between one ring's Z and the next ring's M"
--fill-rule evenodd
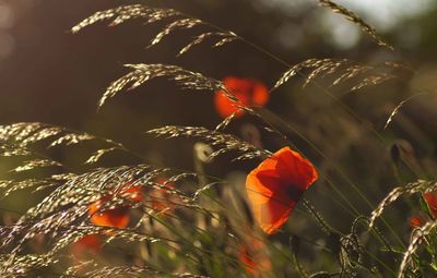
M378 46L389 51L393 49L354 12L332 1L318 2L356 24ZM385 144L390 138L381 138L379 131L367 125L367 120L335 93L367 93L378 85L401 82L399 70L410 71L410 68L395 61L369 65L333 58L310 58L288 64L234 32L173 9L144 4L98 11L73 26L71 32L86 32L84 28L99 22L116 26L132 20L144 24L169 22L158 31L149 47L157 46L176 29L198 25L206 27L208 31L197 34L178 51L178 56L196 51L194 46L206 41L213 47L233 41L246 44L248 48L259 50L259 55L267 55L288 68L270 88L270 97L281 94L286 83L294 78L298 82L300 77L302 87L318 88L339 104L335 109L341 112L332 119L322 114L310 119L308 122L319 121L316 128L303 126L298 119L283 119L265 107L247 105L220 78L175 64L126 64L129 72L108 85L97 104L99 109L109 99L117 101L111 98L118 94L140 90L139 87L147 81L163 77L188 92L214 94L220 90L236 110L215 129L166 125L144 130L149 136L165 140L185 137L194 142L192 170L151 165L141 155L113 140L49 123L1 125L0 158L10 166L0 180L1 200L16 192L45 195L26 211L14 213L1 207L0 216L4 219L8 215L16 218L3 220L0 227L1 277L324 278L436 275L437 216L433 213L433 204L424 198L424 194L436 190L436 181L413 174L415 181L404 182L406 179L400 178L401 171L417 172L415 167L421 166L414 164L414 157L406 157L405 152L394 147L391 154L393 161L388 168L394 168L393 176L398 174L400 184L397 188L385 184L386 195L378 191L375 198L367 191L368 185L356 184L352 174L357 171L339 164L342 160L339 156L347 155L342 148L352 145L349 141L361 142L363 134L370 134L373 138L368 142L373 145L368 149L374 149L381 144L387 146ZM385 119L386 128L409 100L403 100ZM311 114L305 117L311 118ZM246 137L228 132L232 130L229 126L241 124L241 119L252 124ZM331 132L336 129L347 132L342 142L328 145L320 140L330 136L323 128ZM365 133L358 132L361 130ZM261 135L261 132L267 135ZM363 143L364 147L368 142ZM67 165L50 152L83 147L86 143L92 143L91 148L80 165ZM275 158L275 150L284 145L315 161L319 181L312 188L323 188L316 194L322 195L324 202L319 202L320 198L312 202L311 197L300 200L299 195L300 202L287 221L290 225L269 235L259 228L241 182L231 176L216 177L208 170L214 167L215 160L224 159L231 169L234 166L245 167L245 171L249 172L253 165ZM106 156L116 153L138 162L99 167ZM290 171L298 172L298 168ZM132 192L143 195L137 198ZM387 219L382 216L387 210L395 210L393 203L402 197L405 197L409 209L426 216L421 227L405 229L406 217L393 220L392 215ZM92 207L97 208L92 211ZM93 220L105 211L122 211L121 218L127 217L128 211L129 223L107 226ZM344 220L341 219L343 217ZM93 239L97 243L86 243L84 239Z

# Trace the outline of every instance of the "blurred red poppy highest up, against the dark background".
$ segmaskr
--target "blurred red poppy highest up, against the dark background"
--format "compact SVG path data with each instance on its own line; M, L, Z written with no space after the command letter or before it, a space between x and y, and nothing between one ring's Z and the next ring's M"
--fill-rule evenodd
M235 94L235 96L241 101L237 102L231 100L226 97L223 90L215 92L215 110L223 118L226 118L234 112L236 112L237 116L241 116L244 112L236 106L263 106L269 101L269 89L259 81L228 76L223 81L223 83L226 88Z

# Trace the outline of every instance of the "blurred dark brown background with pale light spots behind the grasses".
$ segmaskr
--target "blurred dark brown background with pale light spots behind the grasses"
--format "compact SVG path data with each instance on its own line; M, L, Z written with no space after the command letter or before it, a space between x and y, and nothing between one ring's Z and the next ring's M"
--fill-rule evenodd
M309 58L409 64L413 71L402 72L399 80L380 86L355 94L332 89L341 104L316 86L303 89L302 78L296 78L275 92L267 108L322 150L323 156L296 133L287 131L294 144L344 190L351 202L362 201L347 185L350 182L376 203L399 182L434 177L437 3L433 0L339 1L374 25L395 47L394 52L376 46L358 27L309 0L2 0L0 124L39 121L86 131L121 142L153 164L192 169L190 142L154 140L144 132L166 124L215 126L221 118L214 110L213 95L180 92L170 82L154 80L110 99L97 112L97 101L105 88L127 72L122 64L178 64L218 80L227 75L247 76L268 86L287 70L239 41L220 49L203 44L176 58L178 50L199 34L199 28L178 31L145 49L168 22L144 26L141 21L131 21L116 27L96 24L76 35L70 32L96 11L133 2L174 8L232 29L292 64ZM321 84L329 87L323 81ZM383 130L392 109L415 94L424 95L409 101L392 125ZM245 131L251 126L248 123L253 120L241 118L229 129L247 137ZM272 150L285 144L271 135L260 136ZM399 157L408 160L409 169L398 165ZM339 173L332 161L344 174ZM226 174L240 169L244 173L248 167L220 160L208 170ZM311 192L317 208L329 209L327 218L346 229L350 221L344 219L349 216L339 219L335 211L342 213L343 208L327 197L332 195L329 182L321 179L319 184ZM362 208L363 214L369 211L366 205ZM400 207L395 213L398 219L412 214L408 209Z

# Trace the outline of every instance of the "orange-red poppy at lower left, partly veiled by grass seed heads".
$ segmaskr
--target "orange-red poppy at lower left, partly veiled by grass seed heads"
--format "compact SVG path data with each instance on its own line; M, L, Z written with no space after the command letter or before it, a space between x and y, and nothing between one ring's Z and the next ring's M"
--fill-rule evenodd
M119 193L126 195L132 202L141 202L144 198L141 186L132 186L126 189L129 184L121 186ZM110 201L111 196L104 196L88 207L88 216L91 216L90 220L98 226L104 227L116 227L116 228L125 228L129 225L130 216L129 216L129 207L120 206L116 208L106 209L101 211L102 206Z

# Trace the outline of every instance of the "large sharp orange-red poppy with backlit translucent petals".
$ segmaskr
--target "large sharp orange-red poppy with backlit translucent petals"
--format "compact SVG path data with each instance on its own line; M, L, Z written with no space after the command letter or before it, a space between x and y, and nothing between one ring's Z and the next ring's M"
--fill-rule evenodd
M262 230L276 232L317 178L312 164L290 147L281 148L252 170L246 190Z

